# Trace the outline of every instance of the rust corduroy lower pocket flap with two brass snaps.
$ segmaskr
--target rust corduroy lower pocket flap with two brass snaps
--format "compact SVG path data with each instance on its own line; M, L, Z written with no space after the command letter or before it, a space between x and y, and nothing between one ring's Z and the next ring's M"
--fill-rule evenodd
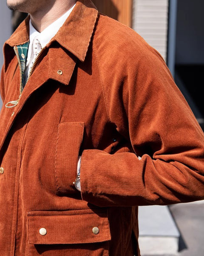
M107 209L28 212L30 244L84 244L111 240Z

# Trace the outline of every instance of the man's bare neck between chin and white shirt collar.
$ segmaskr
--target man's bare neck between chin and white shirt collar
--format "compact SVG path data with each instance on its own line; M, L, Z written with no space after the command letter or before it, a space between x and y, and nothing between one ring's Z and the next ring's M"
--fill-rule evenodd
M51 23L61 17L76 3L77 0L59 0L55 1L53 6L47 6L43 9L30 13L31 22L38 32L42 32Z

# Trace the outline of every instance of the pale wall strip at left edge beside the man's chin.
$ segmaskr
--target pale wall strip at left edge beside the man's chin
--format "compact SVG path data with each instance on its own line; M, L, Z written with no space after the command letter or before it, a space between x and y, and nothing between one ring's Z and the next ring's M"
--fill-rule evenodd
M11 11L6 6L6 0L0 0L0 67L3 65L3 44L10 37L11 31Z

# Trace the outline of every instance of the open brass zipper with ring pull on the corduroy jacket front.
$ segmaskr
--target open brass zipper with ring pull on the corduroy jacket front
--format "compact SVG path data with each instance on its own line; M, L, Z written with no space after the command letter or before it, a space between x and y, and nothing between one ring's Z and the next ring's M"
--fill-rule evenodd
M36 63L37 63L37 61L38 61L38 59L39 59L39 57L40 57L42 51L43 51L43 49L41 49L41 51L39 52L39 54L37 55L37 57L36 57L35 60L34 60L34 63L33 63L33 65L32 65L32 67L31 67L31 70L30 70L30 72L29 72L29 74L28 74L28 78L27 78L27 80L26 80L26 84L27 84L29 78L31 77L31 75L32 75L32 73L33 73L33 71L34 71L34 68L35 68L35 66L36 66ZM19 69L20 69L20 95L19 95L19 99L17 99L17 100L12 100L12 101L6 103L6 108L13 108L13 107L17 106L17 105L18 105L18 102L19 102L19 100L20 100L20 96L21 96L21 94L22 94L22 92L23 92L23 74L22 74L22 68L21 68L21 64L20 64L20 57L19 57L18 50L17 50L17 47L16 47L16 46L14 46L14 52L15 52L15 54L16 54L16 56L17 56L18 65L19 65ZM25 84L25 86L26 86L26 84ZM10 104L10 106L9 106L9 104Z

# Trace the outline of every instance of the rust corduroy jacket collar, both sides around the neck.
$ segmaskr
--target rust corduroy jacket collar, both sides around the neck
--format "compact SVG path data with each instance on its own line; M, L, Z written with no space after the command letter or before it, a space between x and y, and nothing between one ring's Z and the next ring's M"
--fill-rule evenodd
M49 44L57 41L80 61L84 61L97 16L98 11L91 0L77 0L76 6L68 19ZM6 41L4 47L6 47L6 44L14 47L29 41L29 20L30 17L28 16Z

